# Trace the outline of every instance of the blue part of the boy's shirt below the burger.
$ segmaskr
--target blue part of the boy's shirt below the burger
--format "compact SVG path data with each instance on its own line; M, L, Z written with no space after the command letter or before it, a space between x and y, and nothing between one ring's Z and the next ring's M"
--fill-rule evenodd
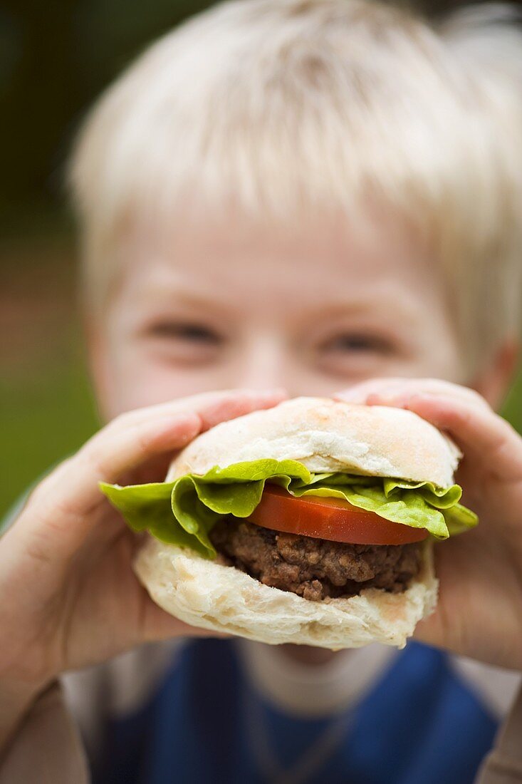
M234 641L183 649L146 706L110 722L95 784L472 784L497 722L411 642L364 699L328 719L277 710Z

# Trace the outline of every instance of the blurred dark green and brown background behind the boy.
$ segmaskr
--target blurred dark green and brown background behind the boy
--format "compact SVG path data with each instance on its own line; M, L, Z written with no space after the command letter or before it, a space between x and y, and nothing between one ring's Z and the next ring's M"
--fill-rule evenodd
M63 166L97 94L209 2L4 2L0 9L0 517L96 430ZM459 5L428 0L429 13ZM522 428L522 381L506 414Z

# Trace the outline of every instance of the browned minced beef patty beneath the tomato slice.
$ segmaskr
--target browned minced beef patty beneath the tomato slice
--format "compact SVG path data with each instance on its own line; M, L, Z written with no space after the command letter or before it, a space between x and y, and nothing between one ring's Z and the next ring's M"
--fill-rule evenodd
M348 597L363 588L398 593L418 574L422 543L344 544L225 518L210 532L219 561L305 599Z

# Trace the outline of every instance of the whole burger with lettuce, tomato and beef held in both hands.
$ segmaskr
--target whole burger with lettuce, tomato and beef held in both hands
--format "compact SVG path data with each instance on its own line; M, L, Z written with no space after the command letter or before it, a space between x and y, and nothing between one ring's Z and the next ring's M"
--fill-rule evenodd
M101 488L149 534L150 597L192 626L402 648L437 601L433 543L477 524L460 457L412 412L299 397L201 434L164 482Z

